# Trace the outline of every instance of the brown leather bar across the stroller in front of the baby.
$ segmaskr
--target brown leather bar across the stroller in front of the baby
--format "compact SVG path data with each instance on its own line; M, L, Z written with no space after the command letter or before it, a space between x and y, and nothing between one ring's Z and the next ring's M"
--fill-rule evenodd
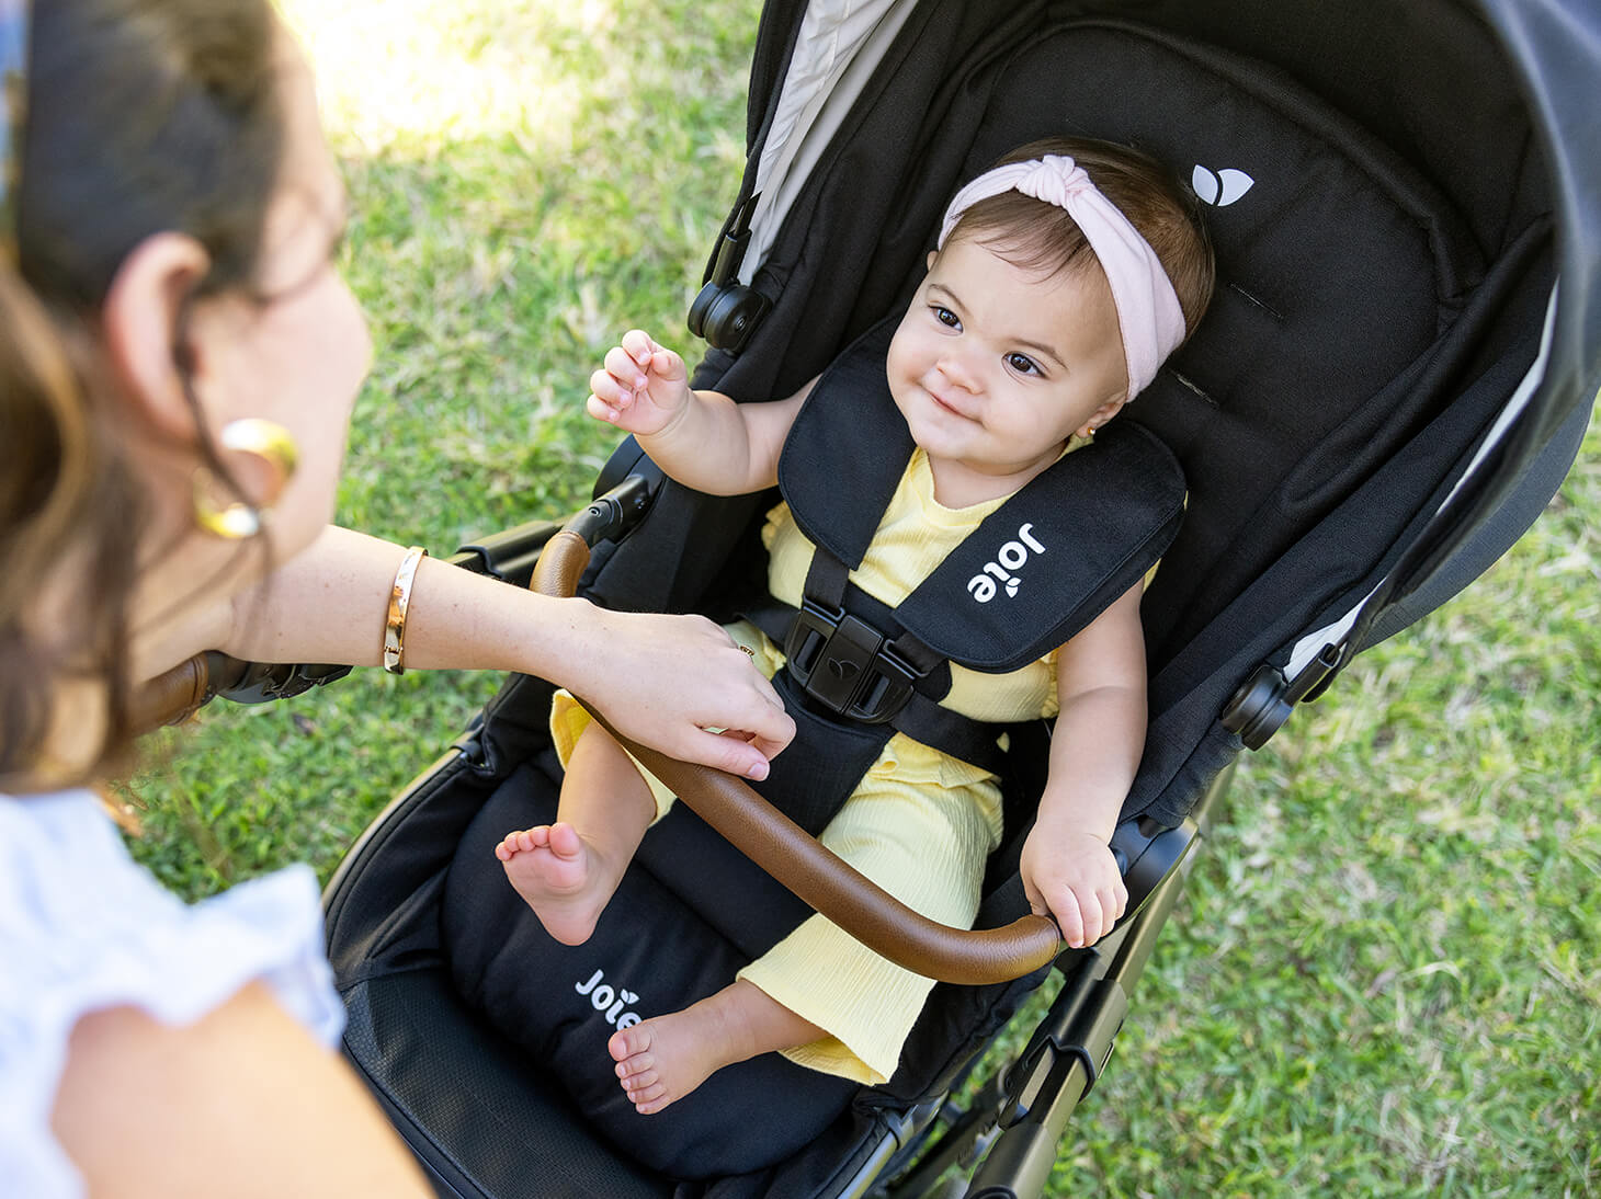
M528 586L544 595L568 597L588 563L588 543L564 530L546 543ZM981 986L1031 973L1065 948L1057 925L1044 916L978 930L930 920L823 848L744 781L647 749L620 735L588 703L584 708L735 848L897 965L943 983Z

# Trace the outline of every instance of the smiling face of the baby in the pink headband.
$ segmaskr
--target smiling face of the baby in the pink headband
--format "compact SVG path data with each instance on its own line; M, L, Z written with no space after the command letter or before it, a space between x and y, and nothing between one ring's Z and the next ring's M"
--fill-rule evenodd
M1122 407L1127 367L1106 277L1042 280L956 237L930 258L895 330L889 383L930 459L1005 495Z

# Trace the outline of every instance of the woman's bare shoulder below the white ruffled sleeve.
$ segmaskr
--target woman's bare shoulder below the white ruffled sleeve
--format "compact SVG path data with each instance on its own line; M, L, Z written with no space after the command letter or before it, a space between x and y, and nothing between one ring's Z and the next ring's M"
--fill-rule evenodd
M94 1199L427 1199L336 1053L251 984L184 1028L131 1007L78 1021L56 1138Z

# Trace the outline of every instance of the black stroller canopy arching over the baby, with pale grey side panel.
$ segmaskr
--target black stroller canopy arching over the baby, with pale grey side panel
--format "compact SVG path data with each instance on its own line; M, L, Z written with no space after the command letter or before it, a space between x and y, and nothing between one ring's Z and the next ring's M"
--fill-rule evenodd
M1294 703L1311 687L1313 695L1321 692L1353 653L1431 612L1487 568L1539 515L1579 450L1601 386L1601 110L1593 96L1601 75L1601 11L1588 0L1386 0L1364 10L1359 19L1367 27L1353 35L1354 18L1310 0L772 0L751 77L749 160L736 215L756 200L740 277L759 291L772 290L775 280L780 290L794 288L800 279L802 288L813 290L825 280L836 291L855 285L860 296L855 306L829 299L857 323L820 333L812 360L805 338L794 331L818 309L802 309L791 320L775 314L789 363L778 368L778 379L757 379L756 392L809 376L837 349L839 336L860 331L873 306L884 309L895 288L906 285L905 279L852 280L853 271L869 272L869 259L873 271L885 261L876 243L860 240L829 248L845 267L831 264L826 274L802 279L805 259L821 255L796 250L786 229L815 224L829 186L845 194L839 182L845 174L852 202L863 210L877 205L892 219L893 203L914 203L905 219L919 229L927 224L924 208L932 203L937 211L948 197L929 200L916 190L917 173L929 174L916 154L932 154L938 144L937 133L917 133L930 122L927 109L905 112L898 126L874 117L871 133L861 114L893 107L885 96L898 94L892 90L905 88L911 72L927 78L911 85L908 96L938 106L957 86L941 70L956 78L989 45L1017 46L1031 29L1077 19L1148 22L1282 72L1354 126L1375 133L1423 186L1446 197L1462 229L1431 237L1457 237L1491 264L1513 256L1543 261L1518 285L1521 295L1494 315L1476 317L1481 328L1457 328L1459 339L1478 339L1483 352L1471 363L1459 355L1460 378L1449 386L1459 394L1476 391L1475 403L1487 416L1465 445L1451 450L1455 458L1439 467L1438 485L1414 482L1418 490L1407 503L1417 514L1396 525L1377 560L1351 571L1348 586L1319 595L1302 616L1274 628L1271 648L1258 639L1249 652L1254 661L1238 663L1236 679L1249 676L1254 663L1273 663L1287 680L1281 695L1298 677L1308 680L1290 695ZM913 43L916 54L908 51ZM929 53L930 43L945 48L945 62ZM1127 102L1138 101L1132 93L1134 85ZM908 141L924 138L911 155L884 144L887 134L903 131ZM868 162L863 142L869 138L879 139L882 158L893 165ZM938 174L929 178L943 184ZM1198 187L1204 198L1206 186ZM1443 327L1447 319L1455 320L1443 317ZM708 365L727 370L730 379L748 367L719 363L716 355ZM1182 357L1178 368L1185 370ZM1326 533L1326 544L1338 543L1337 530ZM1303 575L1310 571L1308 565ZM1178 600L1170 607L1180 607ZM1218 674L1215 666L1209 661L1206 671ZM1156 687L1161 692L1161 679ZM1180 740L1191 740L1190 733Z

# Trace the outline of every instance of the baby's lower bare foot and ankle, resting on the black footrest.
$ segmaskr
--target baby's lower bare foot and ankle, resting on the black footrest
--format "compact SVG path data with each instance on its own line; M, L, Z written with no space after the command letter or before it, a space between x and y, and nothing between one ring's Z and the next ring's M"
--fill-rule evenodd
M724 1066L807 1045L821 1036L826 1034L817 1025L740 978L682 1012L615 1033L607 1052L616 1060L616 1076L634 1108L648 1116L684 1098Z

